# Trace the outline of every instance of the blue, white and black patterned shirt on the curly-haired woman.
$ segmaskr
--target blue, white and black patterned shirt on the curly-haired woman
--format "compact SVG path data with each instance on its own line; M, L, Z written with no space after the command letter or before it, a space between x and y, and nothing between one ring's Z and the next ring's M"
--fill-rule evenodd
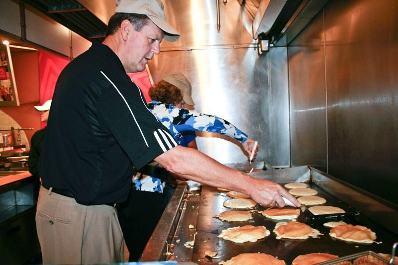
M164 104L156 100L149 102L148 108L164 126L169 128L179 145L186 146L189 141L195 139L192 135L184 136L184 131L215 132L234 138L241 143L247 140L247 134L217 116L178 108L174 104ZM187 141L187 138L190 140ZM163 192L166 182L157 177L137 175L134 177L133 184L137 190Z

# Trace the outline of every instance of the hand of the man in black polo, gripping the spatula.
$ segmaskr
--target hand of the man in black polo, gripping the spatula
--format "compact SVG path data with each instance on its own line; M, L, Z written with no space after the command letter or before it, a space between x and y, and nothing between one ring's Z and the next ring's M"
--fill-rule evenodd
M287 198L297 207L301 205L292 194L277 183L258 178L252 178L252 181L253 189L250 192L250 196L263 206L284 207L286 203L282 197Z

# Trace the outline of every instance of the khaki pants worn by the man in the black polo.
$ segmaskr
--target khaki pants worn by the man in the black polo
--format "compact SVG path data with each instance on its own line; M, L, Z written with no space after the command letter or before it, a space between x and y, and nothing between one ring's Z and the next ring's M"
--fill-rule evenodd
M103 264L124 260L114 207L86 206L40 187L36 228L43 264Z

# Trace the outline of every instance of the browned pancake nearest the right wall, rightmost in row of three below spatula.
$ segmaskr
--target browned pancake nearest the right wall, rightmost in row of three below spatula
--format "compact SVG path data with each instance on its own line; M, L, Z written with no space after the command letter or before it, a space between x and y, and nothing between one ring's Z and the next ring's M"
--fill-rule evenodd
M329 235L347 242L373 243L376 233L361 225L338 225L332 228Z

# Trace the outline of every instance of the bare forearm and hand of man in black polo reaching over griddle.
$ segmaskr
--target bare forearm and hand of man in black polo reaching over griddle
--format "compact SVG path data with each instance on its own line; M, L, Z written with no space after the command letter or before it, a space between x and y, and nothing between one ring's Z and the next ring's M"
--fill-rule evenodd
M263 206L285 206L281 196L300 205L281 185L225 167L192 148L177 146L155 158L155 161L181 177L248 194Z

